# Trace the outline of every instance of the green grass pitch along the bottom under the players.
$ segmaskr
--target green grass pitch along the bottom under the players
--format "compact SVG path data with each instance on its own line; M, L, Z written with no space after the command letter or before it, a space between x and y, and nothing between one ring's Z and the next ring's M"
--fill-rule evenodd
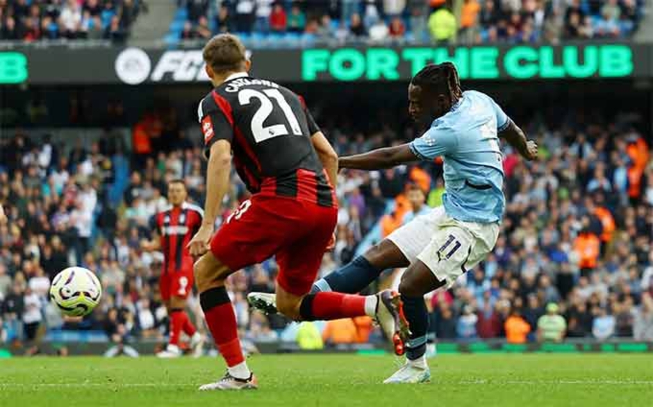
M452 355L431 383L383 385L390 356L254 356L260 388L198 392L220 358L0 360L0 406L653 406L653 355Z

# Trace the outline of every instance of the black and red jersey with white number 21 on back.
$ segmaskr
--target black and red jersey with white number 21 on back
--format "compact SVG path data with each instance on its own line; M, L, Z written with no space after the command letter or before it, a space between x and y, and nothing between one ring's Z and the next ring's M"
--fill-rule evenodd
M265 79L233 74L197 109L206 154L217 140L231 144L233 164L252 194L336 206L311 136L320 128L304 99Z

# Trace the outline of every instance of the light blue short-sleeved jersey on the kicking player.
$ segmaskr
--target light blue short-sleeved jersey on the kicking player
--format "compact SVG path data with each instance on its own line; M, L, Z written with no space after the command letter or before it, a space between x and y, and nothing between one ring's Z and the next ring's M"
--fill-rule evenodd
M442 156L450 217L464 222L499 222L504 213L504 169L497 133L510 124L497 103L470 90L431 128L411 142L422 160Z

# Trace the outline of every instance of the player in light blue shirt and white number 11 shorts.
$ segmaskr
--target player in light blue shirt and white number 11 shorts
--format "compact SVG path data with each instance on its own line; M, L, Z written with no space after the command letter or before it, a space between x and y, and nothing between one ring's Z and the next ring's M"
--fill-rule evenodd
M418 72L408 86L408 101L408 112L416 122L424 126L431 122L420 138L396 147L341 157L338 165L383 169L442 157L443 206L415 217L313 287L318 291L358 292L384 269L408 267L399 292L410 333L395 327L395 331L409 336L405 343L406 365L384 383L420 383L430 379L424 357L429 323L424 294L449 288L458 276L484 260L497 242L505 208L499 136L527 160L537 156L537 144L527 140L493 99L481 92L462 92L452 63L427 65ZM266 309L261 306L265 301L257 299L262 300L258 294L250 294L254 306Z

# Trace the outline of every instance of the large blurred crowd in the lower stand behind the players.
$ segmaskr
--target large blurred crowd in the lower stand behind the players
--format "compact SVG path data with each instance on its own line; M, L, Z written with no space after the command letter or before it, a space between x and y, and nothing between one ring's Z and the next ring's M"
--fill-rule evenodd
M144 115L131 129L131 150L110 130L98 142L68 147L20 131L0 138L0 204L9 219L0 225L0 343L34 344L62 326L101 330L114 341L163 339L161 257L142 250L142 240L151 235L149 218L166 205L167 180L185 179L190 199L204 201L201 147L170 117ZM653 165L630 120L572 117L556 128L538 120L525 126L540 144L538 162L504 149L508 206L497 247L452 290L427 298L434 338L653 340ZM340 154L413 137L390 126L365 134L346 126L325 130ZM320 274L438 206L441 172L437 161L341 172L338 240ZM222 219L246 197L234 176ZM104 285L101 306L82 322L63 321L48 302L49 281L67 265L92 269ZM267 260L229 279L242 338L306 347L322 346L322 339L380 340L365 318L288 325L251 313L247 292L274 290L276 270ZM401 272L388 270L369 290L396 285ZM190 307L201 326L196 297Z

